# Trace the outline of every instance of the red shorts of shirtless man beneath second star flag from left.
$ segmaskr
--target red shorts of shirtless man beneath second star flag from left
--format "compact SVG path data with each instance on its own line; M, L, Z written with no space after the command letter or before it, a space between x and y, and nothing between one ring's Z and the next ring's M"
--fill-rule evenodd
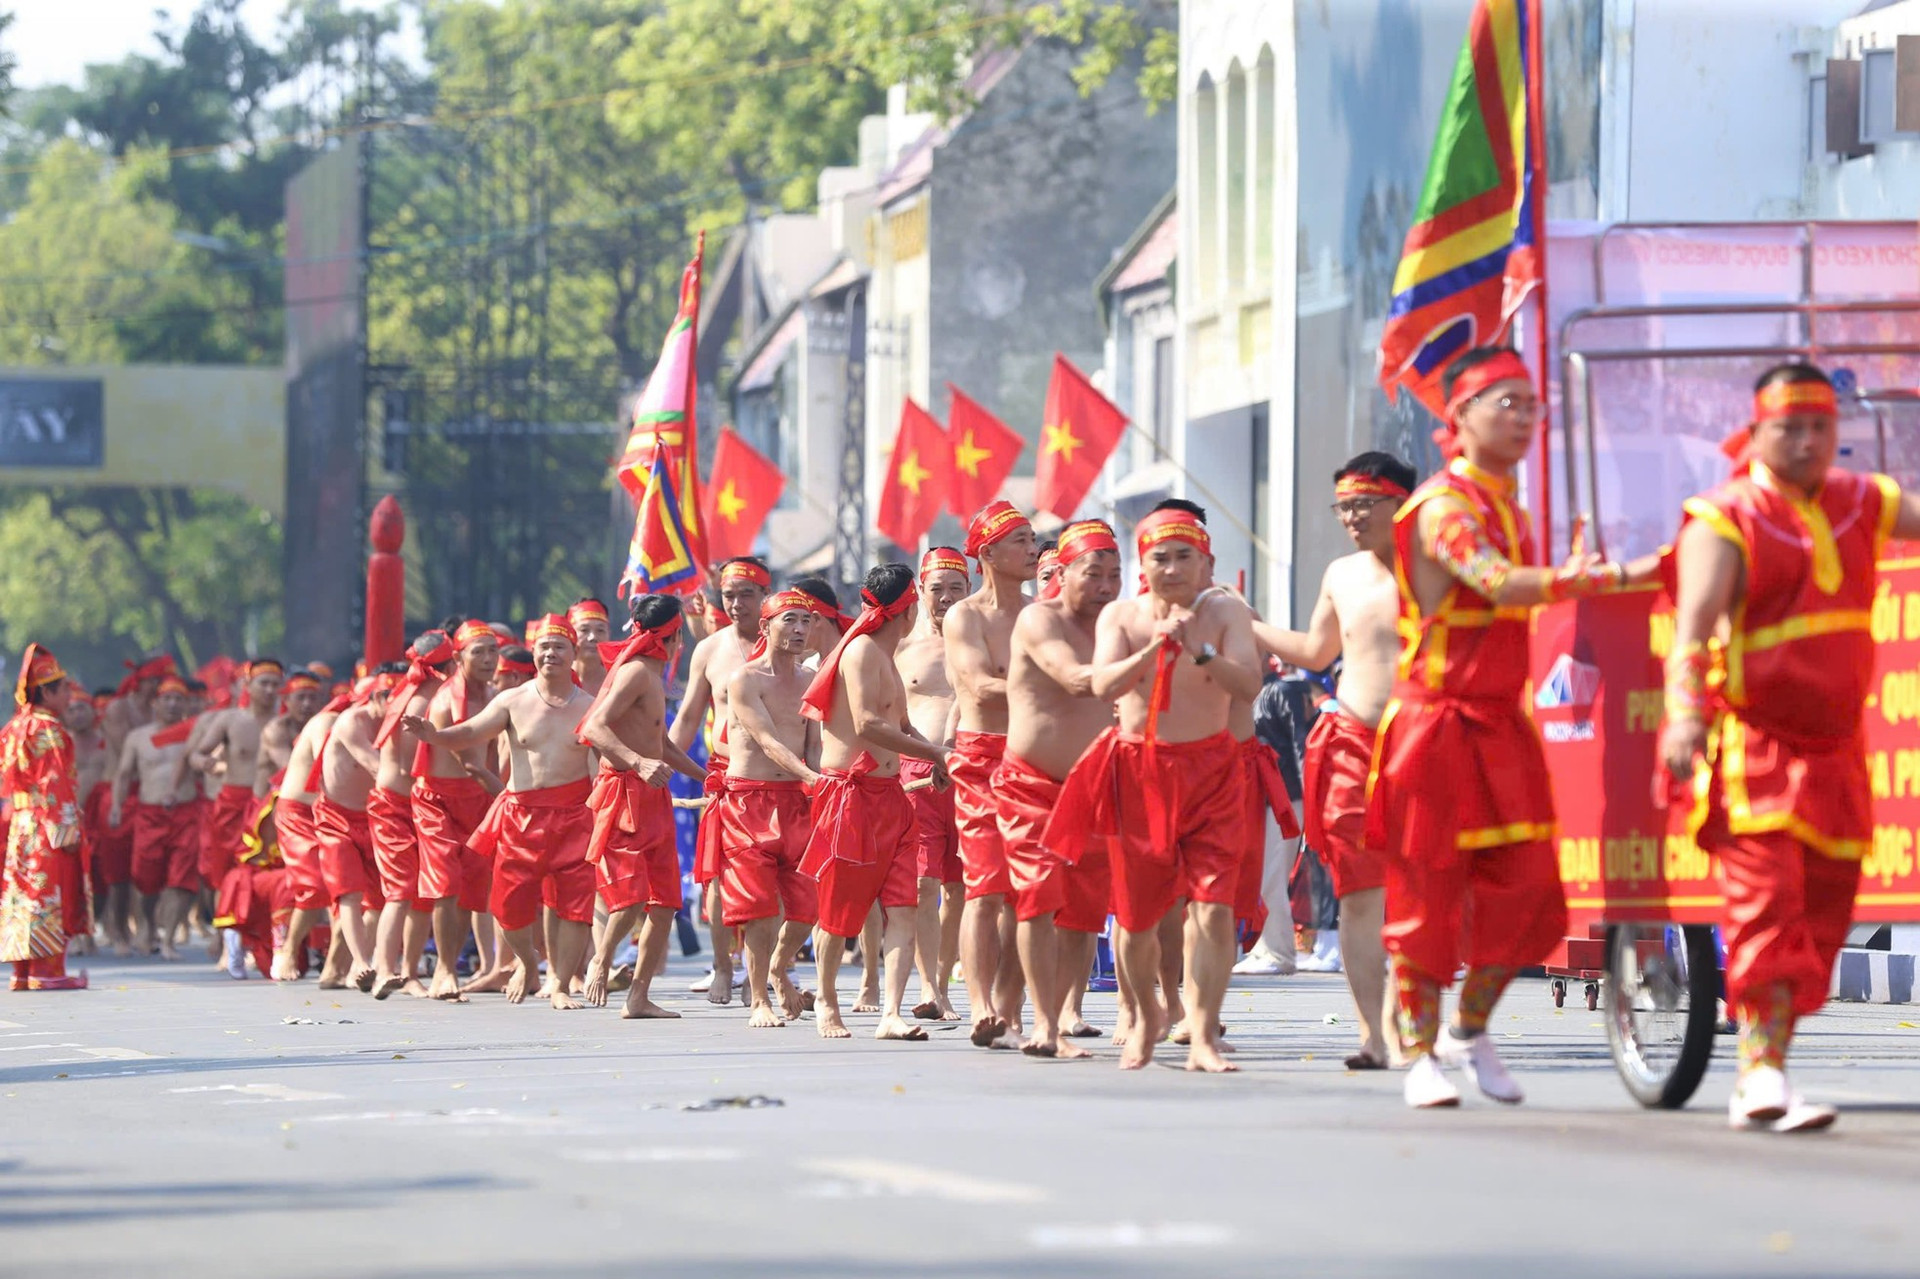
M874 759L829 768L814 789L814 824L801 874L820 881L820 928L858 937L877 901L885 910L920 906L914 805L899 778L872 776Z

